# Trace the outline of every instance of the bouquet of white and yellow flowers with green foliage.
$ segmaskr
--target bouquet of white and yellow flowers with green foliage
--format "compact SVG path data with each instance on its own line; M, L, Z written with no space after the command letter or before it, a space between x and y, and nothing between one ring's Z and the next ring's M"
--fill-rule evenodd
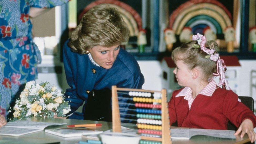
M70 105L64 100L61 91L52 86L49 82L35 84L35 81L26 83L25 89L20 94L20 99L16 100L13 107L13 118L19 120L23 118L65 117L70 111Z

